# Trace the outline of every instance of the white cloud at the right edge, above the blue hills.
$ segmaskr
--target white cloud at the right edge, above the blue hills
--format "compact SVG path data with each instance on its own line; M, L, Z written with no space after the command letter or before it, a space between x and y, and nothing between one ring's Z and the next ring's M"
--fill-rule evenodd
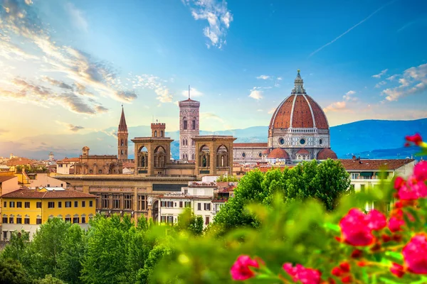
M386 95L386 101L395 102L401 97L419 94L427 91L427 64L411 67L404 71L399 79L399 86L384 89L381 94Z

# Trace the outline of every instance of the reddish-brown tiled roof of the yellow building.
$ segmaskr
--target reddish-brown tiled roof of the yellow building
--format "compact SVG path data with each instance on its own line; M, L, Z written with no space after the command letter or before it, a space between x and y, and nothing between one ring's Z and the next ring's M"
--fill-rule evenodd
M10 193L6 193L2 198L30 198L30 199L53 199L53 198L95 198L95 195L90 195L84 192L75 190L59 190L39 192L37 190L28 190L21 188Z

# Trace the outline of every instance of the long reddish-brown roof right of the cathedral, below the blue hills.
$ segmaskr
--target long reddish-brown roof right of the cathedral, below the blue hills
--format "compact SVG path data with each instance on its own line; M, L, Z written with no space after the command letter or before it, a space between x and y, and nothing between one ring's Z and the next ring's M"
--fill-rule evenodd
M413 159L384 159L384 160L368 160L368 159L340 159L346 170L396 170L408 163L413 163Z

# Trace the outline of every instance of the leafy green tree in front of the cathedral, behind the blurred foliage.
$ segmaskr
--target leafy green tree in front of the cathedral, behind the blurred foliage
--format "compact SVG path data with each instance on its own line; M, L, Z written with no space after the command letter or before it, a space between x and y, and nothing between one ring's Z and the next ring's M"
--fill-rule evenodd
M314 198L322 202L327 210L337 205L339 197L349 192L349 174L339 160L316 160L302 162L293 168L278 168L261 173L253 170L238 184L235 196L226 202L215 217L214 223L221 224L226 231L238 226L260 225L254 214L246 210L248 204L271 204L273 197L280 194L283 202Z

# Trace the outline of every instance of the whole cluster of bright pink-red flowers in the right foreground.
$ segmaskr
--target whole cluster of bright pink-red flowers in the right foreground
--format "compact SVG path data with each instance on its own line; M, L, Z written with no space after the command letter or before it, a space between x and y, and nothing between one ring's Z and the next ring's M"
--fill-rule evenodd
M406 146L416 145L427 153L427 143L423 142L417 133L406 136ZM413 168L413 173L407 179L398 177L394 180L394 197L396 202L389 217L372 209L367 214L360 209L352 208L339 222L341 236L335 236L341 247L357 248L346 250L349 261L340 261L332 268L332 271L321 271L315 268L306 268L302 264L284 263L283 271L277 275L265 267L260 258L252 259L250 256L239 256L231 268L233 280L247 280L250 278L272 279L283 283L303 284L334 284L362 283L355 277L354 270L367 267L384 268L398 278L406 274L427 275L427 233L426 217L419 214L420 204L426 210L427 202L427 161L421 161ZM423 200L420 200L423 199ZM421 203L420 203L421 202ZM423 211L426 212L426 211ZM425 214L424 214L425 215ZM418 220L418 231L415 231L412 223ZM421 220L421 221L420 221ZM406 223L408 222L408 223ZM411 231L410 231L411 230ZM389 243L393 241L394 243ZM376 253L376 256L373 256ZM399 261L378 261L379 253L386 255L394 253L394 258ZM370 258L369 258L370 257ZM386 259L386 258L384 258ZM334 260L330 260L331 263ZM331 267L331 266L330 266ZM352 269L351 269L352 268ZM327 280L322 280L322 272ZM328 273L329 272L329 273ZM285 275L285 276L283 276ZM292 280L289 280L292 279Z

